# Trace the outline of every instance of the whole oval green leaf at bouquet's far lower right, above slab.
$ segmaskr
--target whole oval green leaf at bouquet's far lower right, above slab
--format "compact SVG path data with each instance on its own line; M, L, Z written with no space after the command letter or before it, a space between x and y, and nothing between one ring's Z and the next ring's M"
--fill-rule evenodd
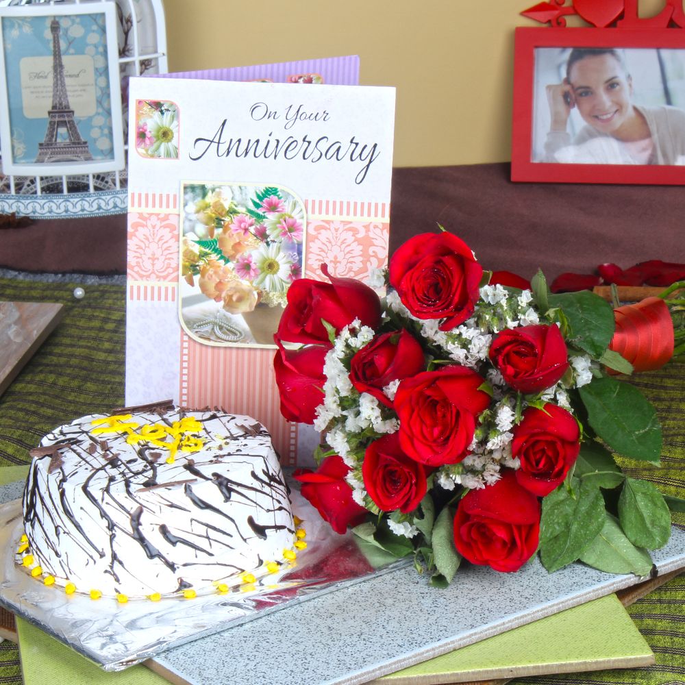
M619 521L633 545L660 549L671 536L671 512L653 483L626 478L619 497Z

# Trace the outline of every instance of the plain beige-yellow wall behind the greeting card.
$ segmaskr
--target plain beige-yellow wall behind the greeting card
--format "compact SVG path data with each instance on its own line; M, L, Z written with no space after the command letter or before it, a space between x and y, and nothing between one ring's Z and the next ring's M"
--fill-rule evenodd
M396 166L503 162L514 27L537 1L164 0L169 69L360 55L360 83L397 87Z

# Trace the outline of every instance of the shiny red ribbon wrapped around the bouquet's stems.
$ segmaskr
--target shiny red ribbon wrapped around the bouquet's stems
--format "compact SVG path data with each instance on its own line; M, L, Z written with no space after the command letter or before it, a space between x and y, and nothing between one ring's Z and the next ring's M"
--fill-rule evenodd
M673 320L659 297L614 310L616 331L609 349L627 359L635 371L660 369L673 356Z

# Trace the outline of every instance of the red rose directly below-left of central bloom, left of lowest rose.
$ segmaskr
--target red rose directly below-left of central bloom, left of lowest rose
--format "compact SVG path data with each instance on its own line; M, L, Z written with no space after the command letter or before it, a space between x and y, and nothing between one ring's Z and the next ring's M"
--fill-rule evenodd
M374 440L364 453L364 487L384 512L413 511L426 494L425 466L402 452L397 433Z

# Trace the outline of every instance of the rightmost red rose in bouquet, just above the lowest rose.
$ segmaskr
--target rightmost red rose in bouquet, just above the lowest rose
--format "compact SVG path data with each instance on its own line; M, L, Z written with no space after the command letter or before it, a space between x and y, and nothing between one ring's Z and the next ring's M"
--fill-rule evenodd
M545 497L564 482L580 452L580 428L573 414L556 404L529 407L514 427L512 456L521 460L516 471L519 485Z

